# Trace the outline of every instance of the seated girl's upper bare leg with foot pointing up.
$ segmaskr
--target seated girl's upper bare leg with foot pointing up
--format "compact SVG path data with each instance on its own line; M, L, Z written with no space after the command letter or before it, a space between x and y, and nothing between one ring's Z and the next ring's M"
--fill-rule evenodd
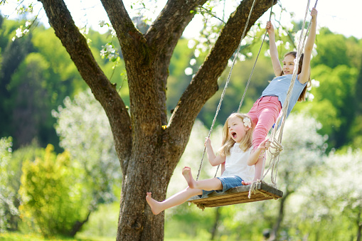
M223 184L218 178L195 181L191 173L191 168L188 166L182 169L182 175L185 177L190 188L198 188L206 191L223 190Z

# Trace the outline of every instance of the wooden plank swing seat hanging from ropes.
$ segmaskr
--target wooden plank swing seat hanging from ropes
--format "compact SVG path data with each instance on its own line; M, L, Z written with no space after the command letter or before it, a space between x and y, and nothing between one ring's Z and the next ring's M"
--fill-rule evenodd
M204 209L239 203L250 203L259 200L278 199L282 198L283 196L282 191L262 182L256 184L257 191L252 193L250 198L248 198L250 186L251 185L230 188L224 193L213 192L204 198L193 196L192 198L188 199L188 202L194 203L198 206L198 208Z

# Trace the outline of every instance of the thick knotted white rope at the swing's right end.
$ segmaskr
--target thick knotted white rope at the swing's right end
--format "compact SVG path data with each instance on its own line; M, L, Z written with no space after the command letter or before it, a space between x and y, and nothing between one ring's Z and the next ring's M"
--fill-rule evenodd
M317 3L318 3L318 0L316 0L316 4ZM304 46L304 43L305 43L309 28L310 28L311 23L312 23L312 21L309 22L309 26L307 28L306 34L303 36L304 26L305 26L305 22L306 22L306 19L307 19L307 14L308 14L308 11L309 11L309 4L310 4L310 0L308 0L308 3L307 3L307 9L306 9L306 13L305 13L305 16L304 16L302 31L301 31L301 35L300 35L300 38L299 38L298 48L297 48L297 58L295 58L295 60L294 60L294 70L293 70L292 80L290 82L289 89L288 89L288 92L287 92L287 98L284 101L284 105L282 107L282 110L280 111L277 122L275 123L275 129L272 130L272 134L270 135L270 140L271 140L270 149L269 149L269 154L271 156L270 165L269 165L269 168L267 168L267 171L265 172L265 174L262 176L262 178L260 180L257 180L256 182L252 183L252 186L250 187L250 191L249 191L249 197L250 197L251 193L255 192L256 183L261 182L265 178L267 173L270 171L270 169L272 169L272 171L271 171L272 186L277 187L277 166L278 166L279 161L280 161L280 159L279 159L280 152L283 150L283 147L282 147L281 143L282 143L282 136L283 136L283 129L284 129L284 124L285 124L285 119L287 118L287 109L288 109L288 106L289 106L290 97L292 96L292 90L293 90L293 87L294 87L294 82L295 82L295 79L297 77L297 71L298 71L298 67L299 67L299 58L302 55L302 48ZM314 8L316 7L316 4L314 5ZM282 123L281 123L280 128L278 128L279 125L280 125L281 119L282 119ZM272 151L271 151L272 149L275 149L274 153L272 153ZM265 158L263 159L263 166L264 165L265 165Z

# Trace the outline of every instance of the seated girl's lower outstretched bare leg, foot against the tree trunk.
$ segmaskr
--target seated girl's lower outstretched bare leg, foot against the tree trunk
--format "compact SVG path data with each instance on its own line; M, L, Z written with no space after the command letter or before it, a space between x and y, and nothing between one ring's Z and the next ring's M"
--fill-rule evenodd
M188 198L201 194L203 194L203 191L201 189L186 188L183 191L176 193L174 196L171 196L170 198L167 198L162 202L158 202L154 200L154 198L151 198L151 193L147 193L146 200L152 210L152 213L154 213L154 215L157 215L167 208L172 208L176 205L185 203Z

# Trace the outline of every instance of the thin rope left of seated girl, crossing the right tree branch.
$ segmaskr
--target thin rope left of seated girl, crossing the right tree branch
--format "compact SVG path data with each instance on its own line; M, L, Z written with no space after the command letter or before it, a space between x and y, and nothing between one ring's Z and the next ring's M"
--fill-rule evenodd
M245 23L245 28L244 28L244 31L243 31L243 35L241 36L240 43L239 43L239 46L238 46L238 50L236 50L235 53L240 52L241 43L243 41L243 38L245 37L246 28L247 28L247 25L249 24L252 9L254 8L254 5L255 5L255 0L252 2L252 6L251 6L251 9L250 9L250 12L249 12L249 16L247 16L247 21ZM230 82L230 76L231 76L231 73L233 71L237 56L238 56L237 54L234 55L233 65L231 65L230 72L229 72L229 75L228 75L228 79L225 82L225 87L224 87L223 93L221 94L220 101L219 101L219 104L218 104L218 108L216 109L215 117L213 118L213 124L211 124L210 131L208 132L208 138L210 138L211 132L213 132L213 126L215 125L216 117L218 116L218 112L220 111L221 102L223 102L223 98L225 96L226 89L228 88L228 83ZM205 156L205 152L206 152L206 146L203 147L203 156L201 157L201 164L200 164L200 167L198 168L198 174L197 174L197 177L196 177L196 181L198 181L198 178L199 178L200 173L201 173L201 168L203 166L203 157ZM218 166L218 168L219 168L219 166ZM218 168L216 170L216 173L218 172Z

